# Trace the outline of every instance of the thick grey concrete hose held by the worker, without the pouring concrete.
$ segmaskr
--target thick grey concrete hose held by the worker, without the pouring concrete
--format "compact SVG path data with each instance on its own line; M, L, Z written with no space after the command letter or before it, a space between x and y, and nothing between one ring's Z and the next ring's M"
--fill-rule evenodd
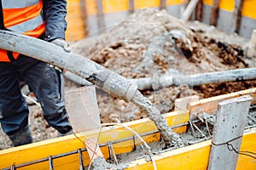
M0 42L0 48L25 54L73 72L119 99L130 101L136 93L136 85L126 80L125 77L109 71L82 55L67 53L55 44L11 31L0 31Z

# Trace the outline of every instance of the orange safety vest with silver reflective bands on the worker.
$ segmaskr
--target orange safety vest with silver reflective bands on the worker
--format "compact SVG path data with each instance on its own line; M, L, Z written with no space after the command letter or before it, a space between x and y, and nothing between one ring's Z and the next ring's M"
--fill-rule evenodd
M31 37L44 33L43 0L3 0L2 7L3 25L7 30ZM18 53L0 49L0 61L10 62L18 56Z

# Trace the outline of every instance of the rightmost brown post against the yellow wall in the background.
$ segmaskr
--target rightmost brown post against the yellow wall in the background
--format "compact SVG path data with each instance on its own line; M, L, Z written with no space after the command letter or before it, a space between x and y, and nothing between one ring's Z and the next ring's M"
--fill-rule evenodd
M240 25L241 25L241 8L242 8L243 0L236 0L235 8L233 12L232 28L231 32L239 33Z

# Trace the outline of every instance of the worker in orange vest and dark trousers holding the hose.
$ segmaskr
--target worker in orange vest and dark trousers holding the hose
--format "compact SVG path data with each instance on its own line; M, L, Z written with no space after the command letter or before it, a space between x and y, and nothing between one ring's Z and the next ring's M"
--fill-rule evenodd
M44 39L70 52L64 35L66 6L65 0L0 0L0 29ZM38 59L0 49L0 122L12 144L32 143L20 77L36 95L49 126L60 135L73 132L67 120L61 71Z

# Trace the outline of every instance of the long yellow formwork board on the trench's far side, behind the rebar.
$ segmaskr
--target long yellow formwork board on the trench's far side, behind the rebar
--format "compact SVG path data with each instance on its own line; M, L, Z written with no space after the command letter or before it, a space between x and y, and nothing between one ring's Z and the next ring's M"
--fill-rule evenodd
M174 111L172 113L167 113L163 115L169 126L174 126L182 124L189 121L189 111ZM156 130L154 122L150 121L148 118L137 120L134 122L126 122L125 126L131 127L137 133L148 133ZM177 127L174 132L183 133L186 131L186 127ZM100 132L100 136L99 135ZM62 153L70 152L73 150L78 150L79 148L85 148L83 143L84 136L86 138L99 138L99 144L105 144L108 141L114 141L119 139L125 139L132 136L130 131L127 131L124 127L114 126L114 127L102 127L102 130L92 130L84 133L74 135L69 135L56 139L49 139L33 144L26 144L23 146L18 146L10 148L7 150L0 150L0 169L5 167L10 167L11 165L19 165L27 161L35 161L42 158L47 158L48 156L56 156ZM151 134L143 137L145 141L153 142L160 140L160 134ZM81 142L82 141L82 142ZM133 140L125 141L120 144L113 144L113 149L116 154L125 153L133 149ZM108 158L108 147L101 147L102 153L105 158ZM90 158L87 152L83 152L84 155L84 165L90 163ZM76 169L79 167L79 156L78 154L71 156L64 156L58 159L54 159L55 169ZM31 165L29 167L23 167L19 169L48 169L49 162L44 161L39 164Z

